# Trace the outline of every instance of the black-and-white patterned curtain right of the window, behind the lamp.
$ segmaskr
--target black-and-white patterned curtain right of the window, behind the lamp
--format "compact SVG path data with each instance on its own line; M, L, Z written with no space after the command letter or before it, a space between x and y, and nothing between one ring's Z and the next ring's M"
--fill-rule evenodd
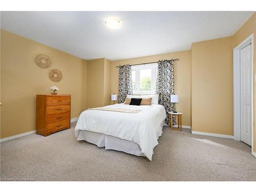
M158 62L158 73L156 82L156 94L159 95L159 104L163 105L167 114L165 123L169 125L168 112L175 111L175 103L170 102L170 95L174 94L174 63L173 60L160 60ZM173 125L176 118L173 116Z

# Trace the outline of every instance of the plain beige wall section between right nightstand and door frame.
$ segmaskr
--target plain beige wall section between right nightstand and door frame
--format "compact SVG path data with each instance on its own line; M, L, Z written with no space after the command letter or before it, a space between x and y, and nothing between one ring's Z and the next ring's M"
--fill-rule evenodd
M192 129L233 135L232 37L191 47Z

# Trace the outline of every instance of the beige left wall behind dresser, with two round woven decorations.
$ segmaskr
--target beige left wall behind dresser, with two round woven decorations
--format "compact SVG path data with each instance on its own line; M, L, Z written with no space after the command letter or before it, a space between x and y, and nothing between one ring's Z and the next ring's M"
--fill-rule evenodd
M34 62L39 53L52 59L49 69ZM1 138L35 130L36 94L51 94L51 86L71 94L71 117L78 117L87 109L86 65L86 60L1 30ZM61 81L49 79L51 69L62 72Z

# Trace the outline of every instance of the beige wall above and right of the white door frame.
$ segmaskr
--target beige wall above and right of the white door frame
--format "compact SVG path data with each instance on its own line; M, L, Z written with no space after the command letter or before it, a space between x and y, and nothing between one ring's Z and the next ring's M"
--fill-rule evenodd
M233 48L236 48L243 40L254 34L254 75L256 74L256 13L233 36ZM254 152L256 153L256 83L254 82Z

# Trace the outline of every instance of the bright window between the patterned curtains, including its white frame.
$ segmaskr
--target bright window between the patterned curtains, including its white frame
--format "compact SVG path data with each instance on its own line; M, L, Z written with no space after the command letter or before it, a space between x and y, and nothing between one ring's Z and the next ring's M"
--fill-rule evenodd
M156 94L157 63L132 66L133 94Z

